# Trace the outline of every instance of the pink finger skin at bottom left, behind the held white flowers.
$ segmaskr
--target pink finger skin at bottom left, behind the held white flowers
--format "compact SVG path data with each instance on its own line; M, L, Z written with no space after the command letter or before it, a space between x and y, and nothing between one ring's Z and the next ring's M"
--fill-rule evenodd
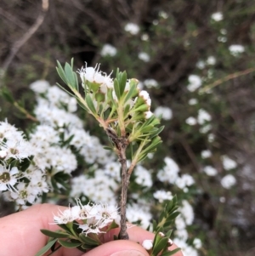
M34 205L25 211L0 219L1 256L34 256L48 241L41 229L59 230L53 223L54 214L64 207L51 204ZM79 256L77 249L61 248L54 256Z

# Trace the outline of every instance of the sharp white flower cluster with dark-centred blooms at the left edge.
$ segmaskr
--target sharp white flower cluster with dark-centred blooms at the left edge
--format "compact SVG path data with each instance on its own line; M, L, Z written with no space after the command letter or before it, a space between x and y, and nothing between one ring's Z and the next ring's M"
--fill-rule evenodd
M25 135L8 122L0 122L0 191L8 201L17 205L34 203L43 192L48 192L44 172L33 163L21 171L22 162L30 161L35 154L34 146ZM13 164L14 160L19 163Z

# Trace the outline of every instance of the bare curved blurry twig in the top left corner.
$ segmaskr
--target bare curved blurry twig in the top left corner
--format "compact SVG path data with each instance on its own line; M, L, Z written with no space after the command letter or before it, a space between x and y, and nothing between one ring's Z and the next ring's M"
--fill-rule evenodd
M31 28L26 31L23 37L21 37L18 41L16 41L13 47L10 50L10 54L6 60L3 61L3 75L8 70L8 66L11 64L12 60L14 60L15 55L18 53L20 48L26 43L26 41L37 31L39 26L42 25L42 22L45 18L45 15L48 11L48 0L42 0L42 12L38 15L36 22L31 26Z

